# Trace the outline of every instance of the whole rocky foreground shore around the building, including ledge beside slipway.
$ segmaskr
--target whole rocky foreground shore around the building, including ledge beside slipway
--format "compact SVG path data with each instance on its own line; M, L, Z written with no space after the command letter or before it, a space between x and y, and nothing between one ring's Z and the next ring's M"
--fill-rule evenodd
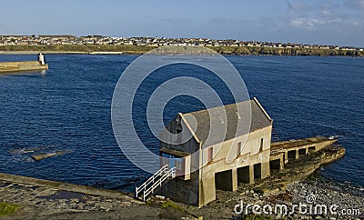
M237 214L235 207L244 205L287 205L307 203L308 195L315 196L318 204L338 205L342 210L357 210L364 205L362 188L349 188L339 182L328 181L319 174L319 167L331 163L345 154L344 148L331 145L328 149L302 157L301 161L288 165L285 175L273 175L266 179L278 181L279 191L274 194L262 192L261 185L240 184L235 192L217 190L217 200L200 208L173 202L163 196L152 196L147 202L136 200L132 195L118 191L72 185L31 177L0 174L0 202L17 205L19 209L6 219L246 219L254 215ZM302 164L303 161L307 163ZM298 175L299 174L299 175ZM248 207L247 207L248 208ZM130 212L132 211L132 212ZM292 211L292 210L288 210ZM364 217L364 210L346 219ZM300 214L289 215L294 219L339 218L343 215ZM286 218L288 215L271 214L264 218ZM250 219L250 218L248 218Z

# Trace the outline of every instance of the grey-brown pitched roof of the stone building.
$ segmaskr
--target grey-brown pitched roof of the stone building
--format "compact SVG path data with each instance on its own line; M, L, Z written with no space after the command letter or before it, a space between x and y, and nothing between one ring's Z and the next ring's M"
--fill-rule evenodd
M249 111L251 113L250 115L248 114ZM197 136L197 141L205 146L215 145L236 136L257 131L272 125L273 121L256 98L237 104L219 106L181 115L189 129L196 130L195 135ZM248 126L250 116L251 123ZM213 129L210 129L210 126ZM226 135L224 136L225 129Z

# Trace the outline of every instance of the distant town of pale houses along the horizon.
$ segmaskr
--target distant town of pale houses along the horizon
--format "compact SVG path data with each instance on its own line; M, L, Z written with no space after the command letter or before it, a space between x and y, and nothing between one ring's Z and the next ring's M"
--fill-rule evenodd
M269 43L217 40L208 38L166 38L166 37L111 37L103 35L0 35L0 45L205 45L205 46L257 46L271 48L312 48L363 51L363 48L339 45L305 45L291 43Z

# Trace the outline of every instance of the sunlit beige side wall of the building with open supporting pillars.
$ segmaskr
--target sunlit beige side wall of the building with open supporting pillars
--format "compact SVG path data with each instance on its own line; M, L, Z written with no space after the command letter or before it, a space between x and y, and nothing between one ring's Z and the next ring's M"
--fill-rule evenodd
M227 183L228 185L225 185L231 191L238 189L239 180L254 183L254 173L259 174L259 177L261 178L266 178L270 175L269 155L271 130L272 126L270 125L250 133L248 137L239 136L235 139L228 140L221 147L214 145L213 147L215 148L213 150L214 156L212 161L207 160L208 150L203 150L203 167L200 169L203 185L200 186L199 193L201 196L198 206L206 205L216 199L216 186L221 186L221 183L216 182L216 173L228 171L228 174L231 174L229 179L231 179L232 183ZM238 143L244 141L246 138L247 142L245 145L242 143L242 150L240 154L238 154ZM263 138L262 147L260 144L261 138ZM227 160L227 156L232 154L235 154L235 158L230 162ZM255 171L254 165L256 165L259 170ZM248 166L247 172L240 169L245 166Z

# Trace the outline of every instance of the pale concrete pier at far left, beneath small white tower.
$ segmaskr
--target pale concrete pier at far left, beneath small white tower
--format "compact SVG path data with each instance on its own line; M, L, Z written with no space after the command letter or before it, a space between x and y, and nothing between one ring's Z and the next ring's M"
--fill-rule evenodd
M0 63L0 73L46 70L48 65L41 65L39 61L3 62Z

